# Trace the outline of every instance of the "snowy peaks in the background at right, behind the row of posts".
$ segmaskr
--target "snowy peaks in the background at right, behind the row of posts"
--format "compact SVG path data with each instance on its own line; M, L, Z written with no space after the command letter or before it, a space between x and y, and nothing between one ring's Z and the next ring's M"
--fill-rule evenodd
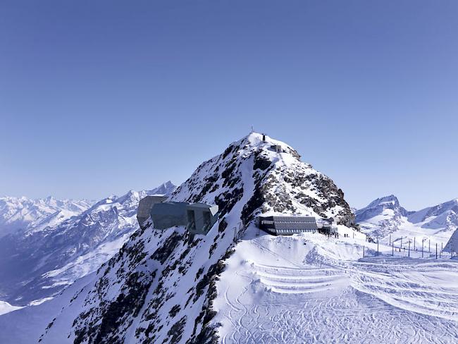
M458 199L419 211L407 211L394 195L378 198L356 211L361 231L379 240L428 238L444 244L458 228Z

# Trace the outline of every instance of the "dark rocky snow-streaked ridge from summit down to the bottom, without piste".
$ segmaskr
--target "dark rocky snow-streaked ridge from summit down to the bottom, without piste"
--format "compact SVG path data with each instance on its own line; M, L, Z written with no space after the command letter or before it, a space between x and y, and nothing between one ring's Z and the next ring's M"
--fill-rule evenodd
M216 343L218 324L210 325L216 281L234 238L256 214L352 221L332 180L302 163L285 143L261 137L251 134L205 161L171 196L175 202L218 204L220 220L207 235L191 235L183 227L136 231L64 307L42 341ZM283 153L271 145L281 145Z

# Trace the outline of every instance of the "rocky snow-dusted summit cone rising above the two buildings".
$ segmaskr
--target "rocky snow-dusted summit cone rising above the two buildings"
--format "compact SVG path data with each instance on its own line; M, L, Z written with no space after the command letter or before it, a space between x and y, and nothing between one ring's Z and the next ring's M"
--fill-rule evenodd
M353 219L333 180L300 161L290 145L260 133L250 133L204 161L171 200L218 204L224 214L246 193L252 195L242 209L245 223L261 213L337 217L342 223Z

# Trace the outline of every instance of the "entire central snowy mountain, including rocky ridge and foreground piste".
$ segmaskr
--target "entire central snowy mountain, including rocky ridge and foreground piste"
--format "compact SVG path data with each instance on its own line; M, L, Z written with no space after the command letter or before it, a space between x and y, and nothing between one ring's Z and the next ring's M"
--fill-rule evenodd
M0 342L454 343L457 264L392 257L352 235L257 231L261 211L353 219L332 180L261 137L234 142L173 193L218 204L207 235L136 231L53 300L1 316Z

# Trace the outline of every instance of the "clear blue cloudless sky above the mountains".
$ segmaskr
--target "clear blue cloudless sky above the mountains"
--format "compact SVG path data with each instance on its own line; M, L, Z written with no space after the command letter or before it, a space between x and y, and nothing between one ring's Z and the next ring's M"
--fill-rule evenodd
M182 183L251 125L354 207L458 197L458 1L0 1L0 195Z

